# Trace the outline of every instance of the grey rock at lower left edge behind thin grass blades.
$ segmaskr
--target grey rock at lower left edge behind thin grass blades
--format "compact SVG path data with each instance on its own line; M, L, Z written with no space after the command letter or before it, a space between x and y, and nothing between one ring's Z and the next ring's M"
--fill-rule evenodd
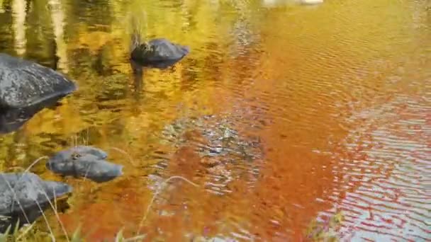
M50 202L71 192L69 185L42 180L34 173L0 173L0 233L18 220L18 226L33 223Z

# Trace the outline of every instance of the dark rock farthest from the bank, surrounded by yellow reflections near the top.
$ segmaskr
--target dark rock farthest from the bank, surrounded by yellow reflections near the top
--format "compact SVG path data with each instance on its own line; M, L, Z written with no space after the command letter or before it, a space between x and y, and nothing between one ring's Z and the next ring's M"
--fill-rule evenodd
M165 38L157 38L136 45L131 53L131 59L143 66L166 68L189 54L190 48L178 45Z

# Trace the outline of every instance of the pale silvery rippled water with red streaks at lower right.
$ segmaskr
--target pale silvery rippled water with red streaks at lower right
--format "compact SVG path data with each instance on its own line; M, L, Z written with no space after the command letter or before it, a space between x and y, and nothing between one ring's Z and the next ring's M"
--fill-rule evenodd
M400 96L349 118L352 130L333 168L330 200L345 221L340 238L431 239L430 100Z

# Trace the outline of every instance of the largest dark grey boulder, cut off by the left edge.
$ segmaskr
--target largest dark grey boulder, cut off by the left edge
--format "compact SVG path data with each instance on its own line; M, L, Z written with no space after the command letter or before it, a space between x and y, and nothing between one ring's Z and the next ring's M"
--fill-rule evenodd
M0 53L0 108L25 108L59 100L77 89L57 71Z

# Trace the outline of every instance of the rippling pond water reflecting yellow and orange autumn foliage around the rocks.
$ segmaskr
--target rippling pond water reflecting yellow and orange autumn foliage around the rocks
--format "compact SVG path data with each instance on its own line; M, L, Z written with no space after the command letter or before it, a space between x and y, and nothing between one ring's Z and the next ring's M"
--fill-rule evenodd
M131 16L190 54L135 73ZM430 241L430 40L427 0L0 0L0 51L79 86L1 134L0 168L106 150L108 183L30 169L72 185L59 216L89 241Z

